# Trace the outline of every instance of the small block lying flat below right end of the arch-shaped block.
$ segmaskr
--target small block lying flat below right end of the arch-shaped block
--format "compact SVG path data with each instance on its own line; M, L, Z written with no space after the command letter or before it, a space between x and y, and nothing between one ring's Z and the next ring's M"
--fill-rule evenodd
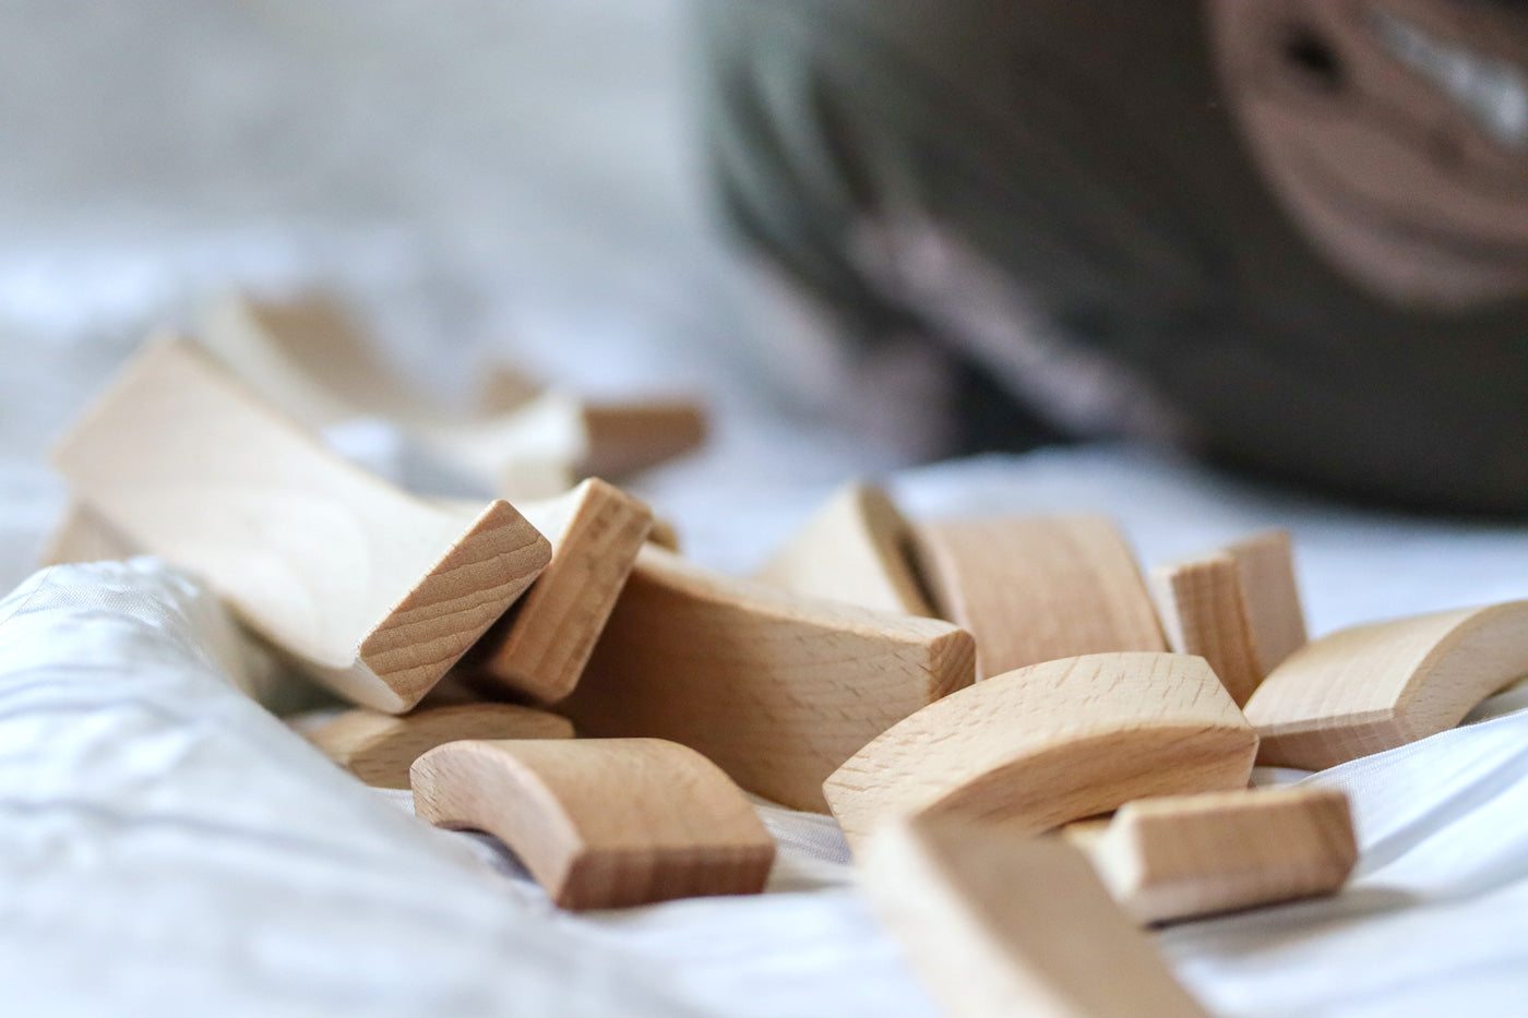
M1128 914L1161 923L1334 894L1358 845L1346 795L1291 787L1126 802L1088 854Z

